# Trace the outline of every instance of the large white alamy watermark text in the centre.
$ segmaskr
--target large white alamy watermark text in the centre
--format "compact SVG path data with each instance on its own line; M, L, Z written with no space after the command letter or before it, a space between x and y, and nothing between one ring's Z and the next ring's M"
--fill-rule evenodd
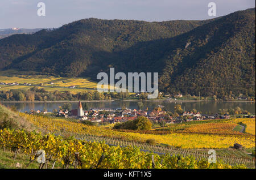
M153 78L153 82L152 82ZM124 72L115 74L114 68L110 68L109 76L106 72L100 72L97 79L101 81L97 84L98 92L147 92L151 93L147 98L158 97L158 72L128 72L128 78ZM141 91L139 91L139 79L141 79ZM115 83L115 80L118 80ZM128 83L128 85L127 85Z

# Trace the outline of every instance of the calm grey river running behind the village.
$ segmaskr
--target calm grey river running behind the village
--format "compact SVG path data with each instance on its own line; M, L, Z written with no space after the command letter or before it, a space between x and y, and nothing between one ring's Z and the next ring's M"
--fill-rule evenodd
M164 105L167 110L174 112L174 106L180 104L186 111L197 109L202 113L217 113L218 109L236 108L239 106L242 109L248 110L250 113L255 114L255 102L214 102L214 101L202 101L202 102L152 102L142 101L144 109L149 110L155 108L158 105ZM70 102L72 108L77 108L77 102ZM90 108L122 108L125 106L130 109L138 109L137 101L122 101L115 100L111 102L87 102ZM5 106L16 106L20 112L29 112L31 109L43 110L46 108L49 112L53 109L59 109L64 102L1 102Z

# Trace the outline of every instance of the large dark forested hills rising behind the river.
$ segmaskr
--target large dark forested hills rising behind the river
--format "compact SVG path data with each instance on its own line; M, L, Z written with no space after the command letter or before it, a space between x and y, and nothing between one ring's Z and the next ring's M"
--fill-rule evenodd
M96 78L109 67L159 72L171 93L255 96L255 8L205 21L90 18L0 40L2 70Z

